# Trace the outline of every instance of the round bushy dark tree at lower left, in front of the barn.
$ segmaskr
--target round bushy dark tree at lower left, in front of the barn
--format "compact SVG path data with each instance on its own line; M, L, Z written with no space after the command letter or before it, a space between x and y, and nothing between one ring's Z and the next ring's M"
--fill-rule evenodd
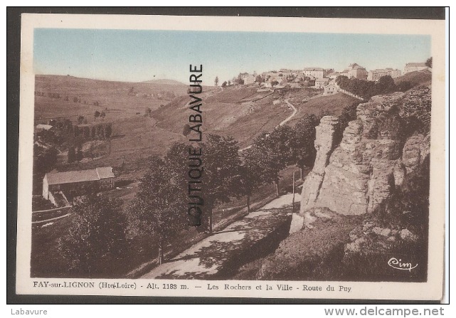
M112 266L127 251L127 217L122 201L89 195L72 208L68 234L58 241L58 251L69 270L84 277L112 275Z

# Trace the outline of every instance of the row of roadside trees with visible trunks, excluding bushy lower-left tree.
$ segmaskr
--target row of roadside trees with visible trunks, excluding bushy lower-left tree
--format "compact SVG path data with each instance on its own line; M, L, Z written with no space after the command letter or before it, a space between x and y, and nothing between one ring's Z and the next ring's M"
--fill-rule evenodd
M356 104L346 107L341 117L354 120ZM212 233L213 208L233 197L250 196L258 186L275 184L279 196L280 171L296 164L302 171L312 167L316 155L315 127L320 117L306 115L295 127L280 126L255 138L250 148L239 151L230 137L209 134L203 143L201 192L203 214L197 229ZM344 127L341 127L344 128ZM164 261L164 245L169 238L186 228L188 212L189 147L174 144L163 159L154 157L151 168L139 186L137 198L129 208L133 228L155 233L159 238L159 263Z

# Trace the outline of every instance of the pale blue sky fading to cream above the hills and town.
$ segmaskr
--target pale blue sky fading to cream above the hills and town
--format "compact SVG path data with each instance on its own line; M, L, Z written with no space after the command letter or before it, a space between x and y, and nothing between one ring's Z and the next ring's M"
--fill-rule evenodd
M37 28L36 74L141 82L167 78L188 83L189 64L203 64L203 84L240 72L322 67L367 70L425 62L426 35L140 31Z

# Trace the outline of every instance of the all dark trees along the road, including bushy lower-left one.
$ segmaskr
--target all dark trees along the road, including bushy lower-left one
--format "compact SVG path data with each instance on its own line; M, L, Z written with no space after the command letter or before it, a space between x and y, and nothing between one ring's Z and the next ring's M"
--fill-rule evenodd
M353 120L354 109L356 104L346 107L341 115L345 120L341 122L346 125L348 120ZM203 164L198 194L203 199L203 213L197 230L212 233L216 204L246 196L250 212L250 196L258 186L275 184L278 196L282 169L290 164L301 169L311 167L316 155L315 127L319 120L320 116L307 115L295 127L280 126L260 134L242 152L235 139L208 134L201 144ZM153 234L158 238L158 261L164 262L166 243L188 228L188 181L189 145L176 143L163 158L151 157L137 196L125 213L120 211L120 203L100 196L76 203L73 226L70 234L60 240L60 250L74 268L85 269L90 274L94 266L110 263L103 260L120 257L128 232L129 236Z

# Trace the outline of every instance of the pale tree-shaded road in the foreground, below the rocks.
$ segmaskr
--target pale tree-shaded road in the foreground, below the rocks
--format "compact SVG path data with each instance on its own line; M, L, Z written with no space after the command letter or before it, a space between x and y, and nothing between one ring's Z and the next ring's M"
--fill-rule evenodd
M265 253L265 246L280 243L278 233L287 233L292 194L285 194L267 203L258 211L201 240L168 262L154 268L141 278L218 279L249 261L255 253ZM295 202L300 200L295 194ZM288 221L287 221L288 220ZM263 244L262 244L263 242ZM272 252L272 251L270 251Z

